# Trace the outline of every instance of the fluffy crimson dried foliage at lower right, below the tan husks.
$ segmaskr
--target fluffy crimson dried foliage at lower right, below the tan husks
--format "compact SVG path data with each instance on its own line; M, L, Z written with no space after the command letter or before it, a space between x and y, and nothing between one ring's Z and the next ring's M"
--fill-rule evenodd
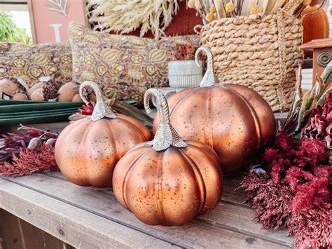
M325 147L324 140L279 134L263 155L268 173L250 173L240 185L263 228L288 227L296 248L332 245L332 166Z

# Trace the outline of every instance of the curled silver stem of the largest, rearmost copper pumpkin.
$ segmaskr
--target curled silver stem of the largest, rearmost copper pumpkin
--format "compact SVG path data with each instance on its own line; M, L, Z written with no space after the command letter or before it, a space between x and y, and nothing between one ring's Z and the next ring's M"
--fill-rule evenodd
M207 71L205 72L202 81L200 82L200 87L209 87L214 86L217 83L216 76L214 76L213 72L213 55L209 48L202 46L199 47L195 53L195 61L198 67L202 67L200 60L198 60L198 55L200 53L205 52L207 54Z

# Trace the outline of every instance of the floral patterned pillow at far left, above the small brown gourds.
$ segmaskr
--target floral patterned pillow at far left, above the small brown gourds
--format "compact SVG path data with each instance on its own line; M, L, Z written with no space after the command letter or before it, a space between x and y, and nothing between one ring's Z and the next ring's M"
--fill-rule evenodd
M69 43L0 43L0 77L18 77L32 86L41 76L71 81L72 61Z

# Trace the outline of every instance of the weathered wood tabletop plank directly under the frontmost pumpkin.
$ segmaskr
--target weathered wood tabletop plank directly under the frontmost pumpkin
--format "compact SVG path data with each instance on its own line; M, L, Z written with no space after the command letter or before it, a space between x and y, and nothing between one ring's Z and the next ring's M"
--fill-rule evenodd
M170 243L191 248L216 247L216 248L282 248L285 243L279 239L279 245L266 240L253 238L251 235L230 231L221 226L215 227L206 222L195 220L184 227L149 227L139 222L132 213L125 210L116 202L112 194L96 191L88 187L79 187L70 182L60 180L47 175L31 175L10 179L26 187L36 189L53 198L66 201L71 205L89 210L91 213L106 217L109 220L124 224L127 227L135 227L139 231L151 234L156 238L164 238ZM222 211L221 211L222 213ZM214 217L215 220L223 220L223 217ZM254 223L247 219L248 222ZM256 224L258 227L259 224ZM226 226L227 227L227 226ZM252 227L251 227L252 229ZM259 228L258 231L261 229ZM240 230L239 230L240 231ZM204 234L204 236L202 235ZM278 241L278 239L276 239ZM281 244L281 245L280 245Z

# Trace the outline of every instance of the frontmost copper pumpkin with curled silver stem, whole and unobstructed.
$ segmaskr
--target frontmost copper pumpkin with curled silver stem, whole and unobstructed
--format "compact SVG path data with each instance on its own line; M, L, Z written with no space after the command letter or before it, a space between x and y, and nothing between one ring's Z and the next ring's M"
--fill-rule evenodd
M181 139L172 128L165 96L150 89L160 105L155 138L130 149L113 174L113 191L122 206L150 225L179 226L212 210L222 193L216 153L207 145ZM151 111L151 110L150 110Z

